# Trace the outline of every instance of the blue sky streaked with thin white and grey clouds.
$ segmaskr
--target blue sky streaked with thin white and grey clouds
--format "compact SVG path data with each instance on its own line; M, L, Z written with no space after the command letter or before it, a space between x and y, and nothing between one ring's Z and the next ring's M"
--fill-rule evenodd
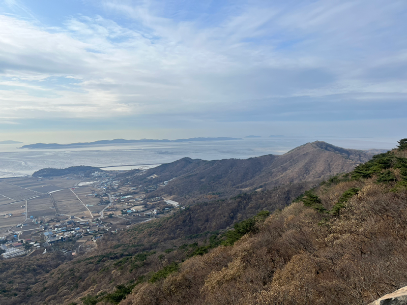
M0 0L0 140L407 137L407 2Z

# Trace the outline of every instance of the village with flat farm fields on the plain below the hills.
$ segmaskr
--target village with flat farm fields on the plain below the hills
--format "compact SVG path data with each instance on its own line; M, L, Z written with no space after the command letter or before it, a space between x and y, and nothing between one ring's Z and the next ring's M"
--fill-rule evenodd
M168 181L134 186L117 179L116 174L96 171L86 178L0 179L1 258L95 251L106 232L114 234L184 208L169 198L147 198ZM21 196L21 190L26 194Z

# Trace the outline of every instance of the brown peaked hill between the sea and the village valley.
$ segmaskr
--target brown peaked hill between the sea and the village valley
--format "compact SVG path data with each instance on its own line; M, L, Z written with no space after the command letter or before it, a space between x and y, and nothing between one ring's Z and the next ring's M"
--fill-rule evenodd
M292 182L327 178L351 171L372 156L362 150L345 149L316 141L281 156L213 161L183 158L149 169L143 175L139 175L138 171L128 171L121 177L135 184L146 185L176 178L164 188L153 192L152 196L188 195L188 198L198 199L215 194L225 197ZM153 174L158 177L148 179Z

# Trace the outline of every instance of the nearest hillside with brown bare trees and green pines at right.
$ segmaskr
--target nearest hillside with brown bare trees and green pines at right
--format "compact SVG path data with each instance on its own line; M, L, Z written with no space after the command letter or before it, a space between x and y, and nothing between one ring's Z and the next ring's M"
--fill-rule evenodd
M233 246L136 285L120 304L356 305L406 286L405 146L407 139L265 221L235 225L226 234L237 236Z

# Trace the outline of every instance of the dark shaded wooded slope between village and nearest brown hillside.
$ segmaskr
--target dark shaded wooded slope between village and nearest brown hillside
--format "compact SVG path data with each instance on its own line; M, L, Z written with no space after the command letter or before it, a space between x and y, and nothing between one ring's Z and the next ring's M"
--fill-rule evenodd
M148 279L152 272L168 264L178 263L194 253L208 252L237 222L262 209L282 209L310 186L309 182L299 182L270 191L194 204L169 218L119 233L106 233L98 241L95 252L66 263L63 261L67 258L57 253L55 257L54 254L25 257L23 262L19 259L3 261L0 303L47 302L50 305L75 301L80 304L81 297L112 292L119 284L130 285L131 281ZM49 260L55 269L44 268Z

